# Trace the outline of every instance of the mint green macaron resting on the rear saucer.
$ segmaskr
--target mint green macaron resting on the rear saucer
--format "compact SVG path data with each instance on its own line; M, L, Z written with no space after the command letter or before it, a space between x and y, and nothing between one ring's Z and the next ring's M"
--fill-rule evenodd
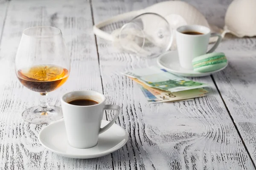
M209 53L192 60L194 71L197 72L210 72L219 70L227 65L227 57L224 53Z

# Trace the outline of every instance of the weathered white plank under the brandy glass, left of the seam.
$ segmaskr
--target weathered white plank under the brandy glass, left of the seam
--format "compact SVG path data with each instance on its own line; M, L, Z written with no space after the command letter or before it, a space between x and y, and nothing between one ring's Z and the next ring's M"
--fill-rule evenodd
M112 169L111 155L89 160L68 159L46 150L37 139L43 126L26 123L20 116L23 110L37 104L39 94L17 81L15 54L22 31L41 25L62 30L72 59L70 78L63 87L49 94L50 103L60 105L60 96L67 91L102 92L89 1L12 0L0 44L0 169Z

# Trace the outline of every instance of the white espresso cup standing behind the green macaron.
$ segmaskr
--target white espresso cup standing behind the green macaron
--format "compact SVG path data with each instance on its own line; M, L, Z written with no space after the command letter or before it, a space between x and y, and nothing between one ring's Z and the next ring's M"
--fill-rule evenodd
M186 32L198 32L201 34L191 35ZM207 51L210 37L218 37L215 45ZM212 53L221 42L221 34L211 33L205 26L186 25L176 29L177 50L180 66L185 69L193 69L192 59L206 53Z

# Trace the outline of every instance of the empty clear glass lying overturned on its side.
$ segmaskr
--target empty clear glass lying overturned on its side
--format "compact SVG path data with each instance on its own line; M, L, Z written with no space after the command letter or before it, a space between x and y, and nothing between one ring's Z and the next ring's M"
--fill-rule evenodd
M140 57L153 58L168 51L172 39L173 31L164 17L144 13L122 26L116 46Z

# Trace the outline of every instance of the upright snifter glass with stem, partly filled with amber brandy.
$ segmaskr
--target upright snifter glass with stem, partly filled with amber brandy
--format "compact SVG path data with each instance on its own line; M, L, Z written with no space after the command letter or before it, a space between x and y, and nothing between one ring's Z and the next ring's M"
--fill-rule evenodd
M50 106L47 94L63 85L70 74L70 55L61 30L50 26L23 31L15 57L17 78L26 88L39 92L39 106L26 109L26 122L48 124L63 118L61 108Z

